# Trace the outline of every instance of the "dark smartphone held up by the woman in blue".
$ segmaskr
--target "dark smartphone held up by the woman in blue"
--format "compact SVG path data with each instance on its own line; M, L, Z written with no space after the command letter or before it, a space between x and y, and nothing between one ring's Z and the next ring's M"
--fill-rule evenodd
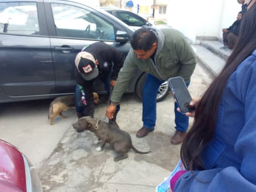
M180 111L184 114L186 112L194 111L195 107L190 106L192 98L183 78L181 76L170 78L168 80L168 84L178 106L180 107Z

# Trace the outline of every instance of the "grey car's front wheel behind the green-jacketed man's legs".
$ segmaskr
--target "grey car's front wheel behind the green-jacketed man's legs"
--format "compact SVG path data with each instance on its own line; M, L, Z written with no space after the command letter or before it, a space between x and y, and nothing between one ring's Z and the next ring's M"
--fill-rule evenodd
M146 78L147 78L147 75L144 73L137 81L136 93L140 99L143 98L143 96L142 96L143 95L143 86L144 86ZM168 86L168 82L165 81L164 83L162 83L162 85L160 85L160 87L158 89L157 102L163 101L163 99L165 99L169 93L170 93L170 87Z

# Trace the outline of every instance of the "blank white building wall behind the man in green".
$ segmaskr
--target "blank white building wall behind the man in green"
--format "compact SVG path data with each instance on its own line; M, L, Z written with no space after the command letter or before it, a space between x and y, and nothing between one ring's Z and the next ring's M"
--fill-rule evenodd
M197 37L222 39L222 28L232 25L240 10L235 0L169 0L167 24L194 43Z

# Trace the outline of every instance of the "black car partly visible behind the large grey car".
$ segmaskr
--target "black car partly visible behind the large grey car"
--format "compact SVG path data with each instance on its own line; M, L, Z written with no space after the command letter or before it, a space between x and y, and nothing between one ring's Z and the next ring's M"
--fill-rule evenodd
M117 17L125 24L129 25L133 29L138 29L142 25L150 25L152 24L144 19L143 17L135 14L134 12L128 11L126 9L118 9L116 7L100 7L104 11L108 12L109 14Z

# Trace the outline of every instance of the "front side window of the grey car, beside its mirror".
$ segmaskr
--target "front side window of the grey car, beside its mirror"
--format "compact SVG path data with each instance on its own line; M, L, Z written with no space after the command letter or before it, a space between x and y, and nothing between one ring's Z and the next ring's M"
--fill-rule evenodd
M115 40L112 24L93 12L60 3L52 3L51 6L57 36Z

